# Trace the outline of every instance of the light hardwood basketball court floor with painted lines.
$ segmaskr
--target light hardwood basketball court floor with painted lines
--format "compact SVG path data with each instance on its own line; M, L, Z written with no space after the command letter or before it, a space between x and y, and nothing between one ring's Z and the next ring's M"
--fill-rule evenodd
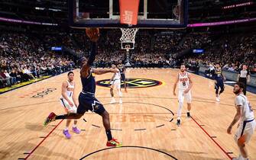
M215 102L214 83L193 75L192 118L183 107L181 126L176 125L177 97L173 82L177 69L128 69L138 88L123 93L123 104L109 104L109 88L97 86L96 97L109 111L112 134L123 147L107 148L101 117L92 112L79 119L79 135L63 136L65 120L44 127L47 115L63 114L61 82L66 73L1 94L1 159L231 159L238 156L232 135L226 133L235 115L232 87L225 85L221 102ZM112 74L97 75L96 81ZM144 79L141 81L141 79ZM160 82L151 87L152 80ZM134 81L134 80L133 80ZM75 70L76 95L81 91L79 70ZM129 82L130 83L130 82ZM131 82L134 83L134 82ZM145 86L144 86L145 85ZM248 93L252 106L255 94ZM255 109L255 108L254 108ZM235 132L235 128L232 133ZM256 158L256 137L248 151Z

